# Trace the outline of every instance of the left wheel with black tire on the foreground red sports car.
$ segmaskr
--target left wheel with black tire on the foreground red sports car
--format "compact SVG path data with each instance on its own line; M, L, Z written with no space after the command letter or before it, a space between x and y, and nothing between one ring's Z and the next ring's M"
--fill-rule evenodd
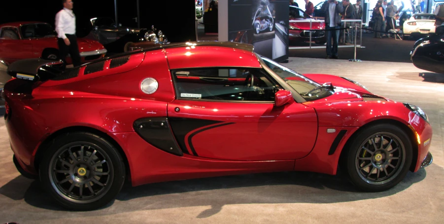
M40 162L39 176L42 187L61 206L87 211L101 208L115 198L125 181L125 166L107 140L74 132L51 142Z

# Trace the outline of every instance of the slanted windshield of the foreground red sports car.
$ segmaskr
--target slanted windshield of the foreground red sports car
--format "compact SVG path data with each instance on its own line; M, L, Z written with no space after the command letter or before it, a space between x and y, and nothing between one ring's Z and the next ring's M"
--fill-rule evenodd
M286 83L288 83L296 92L298 92L306 101L313 101L328 97L333 94L328 86L325 88L319 83L285 68L268 58L262 57L265 65L267 65L276 75L279 75Z

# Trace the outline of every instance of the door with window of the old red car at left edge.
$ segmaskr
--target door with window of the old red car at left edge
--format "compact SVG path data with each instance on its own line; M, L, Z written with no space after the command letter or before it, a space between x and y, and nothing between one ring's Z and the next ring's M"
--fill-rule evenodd
M33 45L20 38L16 27L2 27L0 30L0 58L13 62L33 57Z

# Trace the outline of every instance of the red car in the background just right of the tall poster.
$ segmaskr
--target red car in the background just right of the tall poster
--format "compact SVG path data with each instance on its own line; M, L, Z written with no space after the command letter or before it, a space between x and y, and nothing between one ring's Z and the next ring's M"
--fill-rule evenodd
M310 30L311 40L317 44L324 44L327 42L327 37L325 36L325 23L324 21L312 19L307 13L302 9L290 5L290 21L300 20L300 22L290 22L288 38L290 45L295 42L304 42L310 40ZM310 21L311 20L311 28ZM319 30L319 31L317 31Z

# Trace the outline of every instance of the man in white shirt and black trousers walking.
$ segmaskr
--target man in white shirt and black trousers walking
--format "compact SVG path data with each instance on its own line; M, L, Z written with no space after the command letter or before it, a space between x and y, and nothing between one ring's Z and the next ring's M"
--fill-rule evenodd
M62 0L63 9L56 14L56 32L59 43L60 60L64 62L63 70L66 67L66 57L71 55L72 64L80 66L80 53L75 36L75 15L72 12L72 0Z

